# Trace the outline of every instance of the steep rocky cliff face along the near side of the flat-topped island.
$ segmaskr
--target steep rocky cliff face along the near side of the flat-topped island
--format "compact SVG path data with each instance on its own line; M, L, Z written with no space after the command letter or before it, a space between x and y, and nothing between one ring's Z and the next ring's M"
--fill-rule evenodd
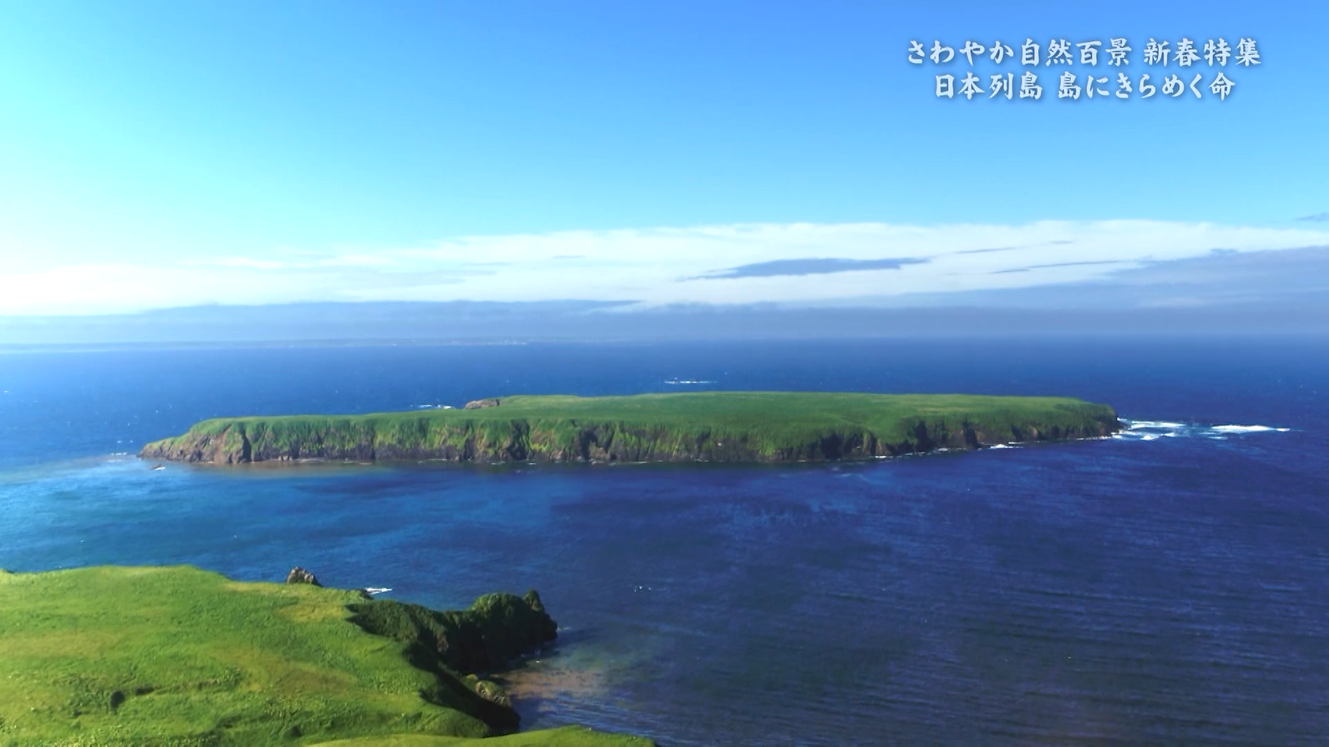
M548 425L548 424L542 424ZM310 432L275 437L254 435L243 423L215 433L190 432L149 444L144 459L206 464L243 464L299 460L429 460L494 464L509 461L639 463L723 461L783 463L835 461L924 453L937 449L978 449L986 445L1096 439L1120 431L1115 415L1082 419L1074 424L1017 423L990 425L921 419L894 439L864 428L844 428L812 437L776 440L751 433L702 431L696 435L631 423L562 424L556 437L524 420L493 428L459 428L428 443L403 443L373 432L347 439L344 432ZM567 428L570 427L570 429Z

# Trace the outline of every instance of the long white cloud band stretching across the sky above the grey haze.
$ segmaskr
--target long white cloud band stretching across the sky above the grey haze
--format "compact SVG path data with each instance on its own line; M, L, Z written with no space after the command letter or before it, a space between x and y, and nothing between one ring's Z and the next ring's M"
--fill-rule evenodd
M1022 226L787 223L464 237L431 246L49 266L0 275L0 314L296 300L836 303L1106 278L1213 250L1329 245L1329 230L1159 221ZM698 279L775 261L926 259L894 270Z

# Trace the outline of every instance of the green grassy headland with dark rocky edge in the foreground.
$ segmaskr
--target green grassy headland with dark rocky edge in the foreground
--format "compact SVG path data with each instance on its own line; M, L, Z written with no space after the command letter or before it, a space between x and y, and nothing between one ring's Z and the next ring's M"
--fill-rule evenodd
M477 673L553 635L534 593L440 613L189 566L0 572L0 744L469 744L517 727ZM493 743L650 744L578 727Z

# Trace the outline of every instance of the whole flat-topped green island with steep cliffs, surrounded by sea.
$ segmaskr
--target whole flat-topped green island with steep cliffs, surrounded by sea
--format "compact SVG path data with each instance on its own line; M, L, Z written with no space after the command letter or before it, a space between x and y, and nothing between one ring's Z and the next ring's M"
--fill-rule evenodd
M820 461L938 448L1086 439L1120 428L1070 397L703 392L514 396L462 409L221 417L148 444L145 459L241 464L320 460Z

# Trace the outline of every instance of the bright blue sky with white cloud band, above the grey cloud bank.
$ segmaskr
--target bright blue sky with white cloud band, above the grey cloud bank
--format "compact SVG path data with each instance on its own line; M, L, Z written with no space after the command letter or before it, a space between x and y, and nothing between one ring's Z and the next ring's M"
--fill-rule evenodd
M1297 221L1329 211L1322 4L29 3L0 16L0 314L844 302L1329 243L1329 222ZM1126 36L1132 77L1150 36L1249 36L1263 64L1229 62L1223 102L1007 102L938 100L936 68L905 61L912 39L1018 53L1030 36ZM954 259L1034 245L1005 265ZM952 265L889 262L944 254ZM869 265L811 284L734 271L800 259Z

